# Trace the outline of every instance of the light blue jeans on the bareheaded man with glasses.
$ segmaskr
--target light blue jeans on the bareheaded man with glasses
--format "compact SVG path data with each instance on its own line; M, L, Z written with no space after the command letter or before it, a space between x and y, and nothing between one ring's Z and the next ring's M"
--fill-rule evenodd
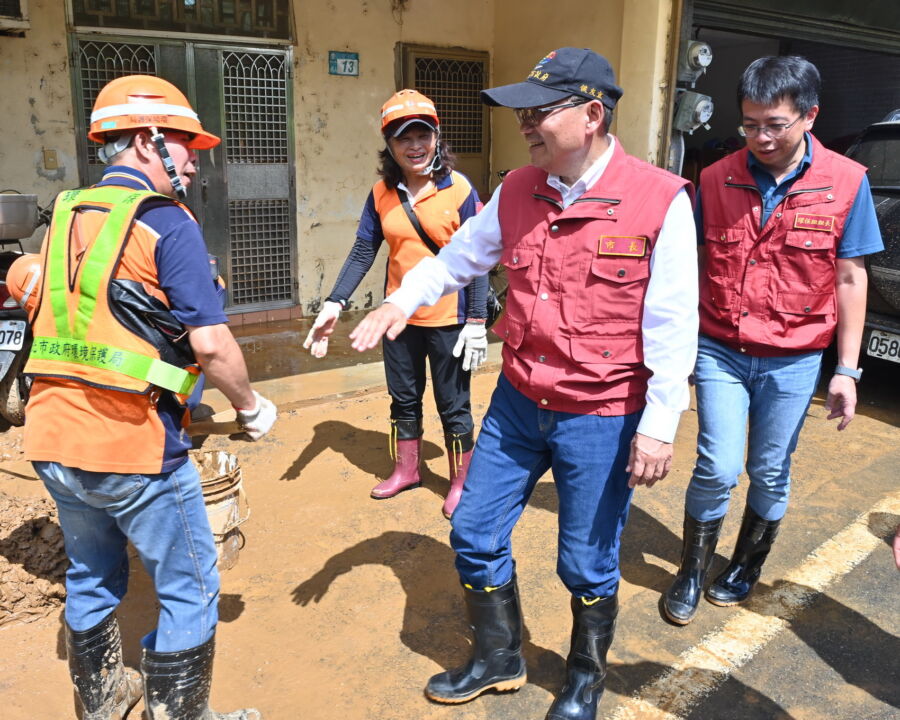
M694 371L697 465L685 509L695 520L723 517L744 468L747 502L765 520L787 510L791 455L819 381L822 352L750 357L700 336ZM749 420L749 431L748 431Z

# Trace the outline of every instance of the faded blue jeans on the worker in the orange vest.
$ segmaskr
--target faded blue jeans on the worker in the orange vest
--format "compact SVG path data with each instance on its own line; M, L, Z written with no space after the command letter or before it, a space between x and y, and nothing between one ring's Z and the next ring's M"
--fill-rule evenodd
M128 589L130 540L160 604L157 628L144 646L176 652L212 637L219 574L193 464L159 475L87 472L53 462L34 467L59 509L70 563L69 627L88 630L116 609Z

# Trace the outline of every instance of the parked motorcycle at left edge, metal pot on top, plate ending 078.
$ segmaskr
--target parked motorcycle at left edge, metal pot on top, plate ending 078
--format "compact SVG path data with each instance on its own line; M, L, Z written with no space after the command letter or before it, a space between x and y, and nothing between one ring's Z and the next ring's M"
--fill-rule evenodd
M31 378L23 371L32 336L28 314L10 295L6 279L10 266L25 254L21 240L48 222L35 195L0 192L0 417L10 425L25 422Z

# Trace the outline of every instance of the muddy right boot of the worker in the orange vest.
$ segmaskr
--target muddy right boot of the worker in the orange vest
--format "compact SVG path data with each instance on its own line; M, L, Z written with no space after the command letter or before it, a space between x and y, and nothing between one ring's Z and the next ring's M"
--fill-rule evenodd
M144 707L149 720L262 720L259 710L217 713L209 708L215 637L173 653L144 649Z

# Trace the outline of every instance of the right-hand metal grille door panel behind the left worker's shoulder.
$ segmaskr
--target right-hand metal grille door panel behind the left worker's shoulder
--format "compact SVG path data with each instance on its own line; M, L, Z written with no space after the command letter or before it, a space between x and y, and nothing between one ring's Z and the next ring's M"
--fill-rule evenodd
M197 102L222 144L205 177L207 242L221 238L229 308L294 304L296 237L290 51L195 46ZM204 78L201 82L200 78ZM212 82L216 78L218 82Z

